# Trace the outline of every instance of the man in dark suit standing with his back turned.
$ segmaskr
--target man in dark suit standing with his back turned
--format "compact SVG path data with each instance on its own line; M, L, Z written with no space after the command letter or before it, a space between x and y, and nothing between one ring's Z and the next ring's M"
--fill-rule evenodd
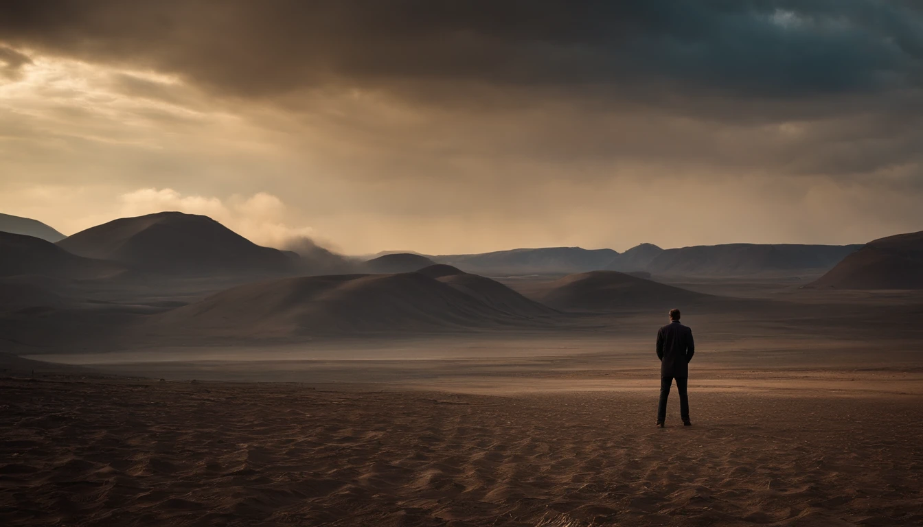
M670 323L657 331L657 358L660 359L660 404L657 406L657 426L664 427L666 398L670 395L673 379L677 379L679 416L683 425L689 422L689 361L695 353L692 329L679 323L679 310L670 309Z

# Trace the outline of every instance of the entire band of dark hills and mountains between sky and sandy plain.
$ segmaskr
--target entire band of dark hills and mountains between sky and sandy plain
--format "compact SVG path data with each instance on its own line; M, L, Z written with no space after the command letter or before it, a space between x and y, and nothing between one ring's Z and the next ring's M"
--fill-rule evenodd
M121 339L147 342L149 335L195 341L531 331L579 325L574 320L587 313L729 308L726 298L643 278L650 272L794 276L835 265L819 286L923 288L923 233L856 249L642 244L622 254L549 247L432 258L390 254L361 262L309 240L298 244L298 257L253 244L205 216L162 212L108 222L57 244L0 233L0 346L115 346ZM317 269L341 274L297 276ZM510 277L514 288L481 272ZM534 274L548 276L523 278ZM560 274L568 276L555 280Z

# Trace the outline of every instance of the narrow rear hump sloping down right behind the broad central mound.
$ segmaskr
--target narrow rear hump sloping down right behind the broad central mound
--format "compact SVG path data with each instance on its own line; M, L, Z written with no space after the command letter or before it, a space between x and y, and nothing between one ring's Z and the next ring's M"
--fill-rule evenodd
M417 272L441 281L452 289L473 296L485 305L509 315L547 317L555 314L554 309L530 300L498 281L463 272L461 269L450 265L436 264L420 269Z

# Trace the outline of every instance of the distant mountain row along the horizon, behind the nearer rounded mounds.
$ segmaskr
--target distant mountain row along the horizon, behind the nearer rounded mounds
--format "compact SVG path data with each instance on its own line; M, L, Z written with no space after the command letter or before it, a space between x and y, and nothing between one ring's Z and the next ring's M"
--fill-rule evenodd
M206 216L181 212L114 220L66 237L57 245L77 256L165 275L398 273L440 263L490 276L617 270L647 272L655 278L820 275L860 247L727 244L662 249L641 244L621 254L612 249L544 247L433 257L392 253L360 262L310 240L293 247L301 257L258 246Z

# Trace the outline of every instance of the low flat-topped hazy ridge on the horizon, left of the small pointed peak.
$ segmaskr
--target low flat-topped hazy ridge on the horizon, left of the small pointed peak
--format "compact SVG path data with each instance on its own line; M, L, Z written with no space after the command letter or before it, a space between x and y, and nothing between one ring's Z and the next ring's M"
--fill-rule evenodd
M545 247L431 258L479 274L536 274L605 269L617 256L612 249Z

